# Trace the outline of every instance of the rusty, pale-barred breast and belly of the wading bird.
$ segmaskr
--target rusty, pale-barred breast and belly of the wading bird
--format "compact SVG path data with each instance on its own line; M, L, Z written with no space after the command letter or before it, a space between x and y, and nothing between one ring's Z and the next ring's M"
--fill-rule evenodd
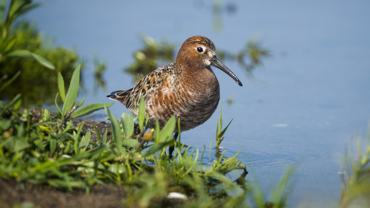
M219 83L212 70L168 80L153 98L152 104L147 106L151 120L158 120L163 125L175 115L180 118L181 130L184 131L211 117L220 97Z

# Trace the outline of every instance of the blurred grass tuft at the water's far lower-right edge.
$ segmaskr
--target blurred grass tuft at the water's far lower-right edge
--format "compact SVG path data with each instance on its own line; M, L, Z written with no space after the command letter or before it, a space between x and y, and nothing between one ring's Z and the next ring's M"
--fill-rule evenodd
M370 124L366 143L361 142L362 136L357 137L356 141L356 156L353 156L353 141L351 141L350 152L344 157L346 173L342 172L343 190L340 207L367 207L370 204Z

